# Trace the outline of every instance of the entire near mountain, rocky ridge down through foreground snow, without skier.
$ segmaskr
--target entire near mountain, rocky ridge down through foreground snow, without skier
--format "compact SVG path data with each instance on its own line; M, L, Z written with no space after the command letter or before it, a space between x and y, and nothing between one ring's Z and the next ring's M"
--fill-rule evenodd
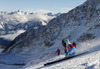
M77 31L75 31L79 25L80 27ZM75 32L71 34L73 31ZM88 55L78 57L72 61L70 60L68 61L69 64L67 64L66 61L51 67L41 67L44 63L52 61L53 59L51 58L54 58L55 60L59 57L55 54L57 48L59 48L61 50L61 54L64 55L61 42L62 39L65 38L69 38L71 42L75 41L77 43L77 53L88 50ZM6 52L9 52L9 54L2 55L2 60L0 61L8 64L27 64L27 62L29 62L24 69L55 69L55 67L59 69L66 69L71 68L71 65L72 69L91 69L93 67L100 68L100 59L97 57L100 54L99 41L100 0L87 0L85 3L77 6L68 13L61 14L57 18L52 19L47 26L30 29L19 35L12 42L11 46L5 49ZM14 58L11 57L12 53L14 54ZM62 55L60 58L64 57ZM4 58L7 56L9 56L9 62L8 58ZM15 60L15 57L17 61ZM74 65L73 63L76 64ZM65 67L63 67L63 64Z

